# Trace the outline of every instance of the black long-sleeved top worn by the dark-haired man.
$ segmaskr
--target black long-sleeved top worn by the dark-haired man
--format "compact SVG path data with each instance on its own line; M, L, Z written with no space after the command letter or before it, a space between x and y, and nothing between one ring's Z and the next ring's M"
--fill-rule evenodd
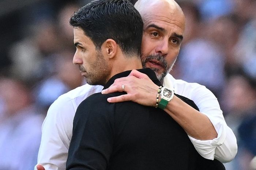
M139 71L161 85L151 69ZM113 76L104 88L129 73ZM217 160L198 154L184 129L163 110L131 101L107 102L122 94L93 94L79 105L67 170L221 170ZM193 101L177 97L198 110Z

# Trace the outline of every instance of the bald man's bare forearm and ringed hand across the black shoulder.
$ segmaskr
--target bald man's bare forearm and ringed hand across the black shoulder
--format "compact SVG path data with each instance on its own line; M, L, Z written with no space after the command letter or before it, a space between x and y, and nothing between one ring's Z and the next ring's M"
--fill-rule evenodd
M109 102L133 101L141 105L155 107L159 87L147 75L136 70L132 71L128 77L116 80L112 86L103 90L102 93L123 91L122 84L125 84L127 94L108 98ZM205 114L198 112L176 96L168 103L165 111L182 126L189 136L195 139L210 140L218 135Z

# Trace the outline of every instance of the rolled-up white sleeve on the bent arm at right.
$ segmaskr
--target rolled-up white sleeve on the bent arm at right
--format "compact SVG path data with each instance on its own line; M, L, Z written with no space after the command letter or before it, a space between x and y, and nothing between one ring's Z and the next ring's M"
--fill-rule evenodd
M227 126L217 98L206 87L200 86L193 89L190 99L199 107L200 112L210 119L218 133L217 138L213 140L197 140L189 136L197 152L206 159L216 158L222 163L233 160L237 153L236 136Z

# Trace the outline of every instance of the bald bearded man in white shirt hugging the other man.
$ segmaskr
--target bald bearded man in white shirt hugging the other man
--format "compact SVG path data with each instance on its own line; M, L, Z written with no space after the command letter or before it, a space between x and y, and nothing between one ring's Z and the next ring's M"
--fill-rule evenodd
M206 87L176 80L168 73L183 38L185 18L181 8L174 0L139 0L135 7L144 22L141 49L144 67L153 69L163 86L174 88L176 94L193 100L200 112L176 97L163 109L187 132L200 155L223 163L231 161L237 152L236 137L224 120L217 98ZM82 64L79 63L82 61L73 62ZM109 102L131 100L155 106L157 89L146 75L132 71L130 76L115 81L104 92L124 90L128 93ZM38 169L65 169L76 109L85 98L101 90L102 86L86 84L61 95L50 106L42 126L38 153L38 164L44 167L37 166Z

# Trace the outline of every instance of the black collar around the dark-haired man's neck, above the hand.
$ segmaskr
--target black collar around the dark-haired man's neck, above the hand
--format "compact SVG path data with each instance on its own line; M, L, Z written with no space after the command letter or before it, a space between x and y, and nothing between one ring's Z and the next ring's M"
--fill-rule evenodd
M137 69L137 70L141 73L146 74L155 84L157 84L158 86L161 86L161 83L157 79L157 76L155 75L155 72L153 70L151 70L150 68L143 68L143 69ZM126 77L130 73L131 73L131 70L124 71L124 72L121 72L121 73L118 73L118 74L114 75L112 78L110 78L108 80L108 82L105 84L103 89L109 88L109 86L111 86L111 84L114 83L114 80L116 80L118 78Z

